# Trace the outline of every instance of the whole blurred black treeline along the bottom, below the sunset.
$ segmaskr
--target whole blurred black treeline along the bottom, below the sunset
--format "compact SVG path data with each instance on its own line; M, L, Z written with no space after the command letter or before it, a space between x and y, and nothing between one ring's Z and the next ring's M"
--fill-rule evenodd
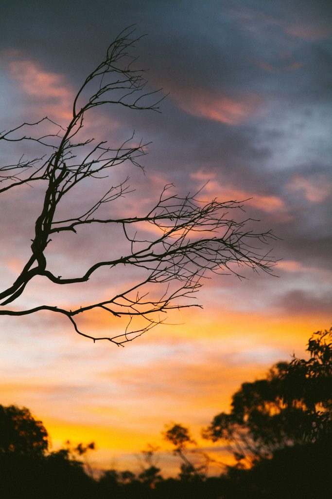
M49 452L48 434L26 408L0 406L0 497L3 499L325 499L332 477L332 329L309 339L310 357L272 366L264 379L243 383L230 411L202 432L234 458L209 477L212 459L190 430L164 432L180 460L176 478L164 478L152 446L144 466L108 470L98 478L84 464L94 443Z

